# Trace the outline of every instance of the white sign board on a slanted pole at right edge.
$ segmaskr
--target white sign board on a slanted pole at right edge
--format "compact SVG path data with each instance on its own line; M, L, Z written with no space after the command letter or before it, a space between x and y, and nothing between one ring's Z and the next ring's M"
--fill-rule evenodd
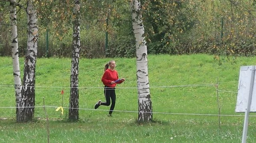
M252 85L252 100L249 107L250 112L256 112L256 75L254 76L255 72L252 69L253 66L240 67L236 112L246 112L250 96L250 86Z

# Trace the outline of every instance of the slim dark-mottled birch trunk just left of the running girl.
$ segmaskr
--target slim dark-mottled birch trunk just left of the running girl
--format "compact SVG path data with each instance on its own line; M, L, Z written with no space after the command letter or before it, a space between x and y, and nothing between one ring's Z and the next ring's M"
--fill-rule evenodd
M78 121L78 71L79 71L79 51L80 51L80 1L75 0L73 11L73 50L71 60L70 75L70 104L68 116L71 121Z

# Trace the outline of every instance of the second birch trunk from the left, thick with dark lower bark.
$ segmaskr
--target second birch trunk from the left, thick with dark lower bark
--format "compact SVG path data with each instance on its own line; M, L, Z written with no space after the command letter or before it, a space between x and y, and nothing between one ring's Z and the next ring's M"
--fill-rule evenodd
M38 48L38 27L37 12L34 10L32 0L28 0L26 13L28 20L28 45L26 49L26 57L24 59L24 77L21 93L21 104L23 108L20 108L18 111L18 122L32 120L34 117L35 106L35 71Z

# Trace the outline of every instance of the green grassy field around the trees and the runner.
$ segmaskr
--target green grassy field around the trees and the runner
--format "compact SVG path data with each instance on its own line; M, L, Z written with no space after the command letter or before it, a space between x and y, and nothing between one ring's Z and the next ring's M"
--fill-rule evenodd
M101 80L110 59L80 59L79 118L68 122L70 66L68 58L38 59L34 121L16 123L12 58L0 57L0 143L47 142L46 112L52 143L240 143L244 113L236 113L240 66L255 65L256 57L234 61L214 60L212 55L149 55L148 73L153 106L151 123L137 124L136 59L116 58L116 70L126 82L116 89L112 117L104 101ZM20 58L23 69L23 59ZM23 75L23 73L22 73ZM22 76L21 75L21 76ZM218 82L217 88L214 86ZM61 90L64 90L63 102ZM64 115L56 112L62 106ZM219 109L220 108L220 112ZM222 115L217 116L218 114ZM224 116L225 115L225 116ZM229 116L226 116L229 115ZM250 113L248 143L256 142L256 118Z

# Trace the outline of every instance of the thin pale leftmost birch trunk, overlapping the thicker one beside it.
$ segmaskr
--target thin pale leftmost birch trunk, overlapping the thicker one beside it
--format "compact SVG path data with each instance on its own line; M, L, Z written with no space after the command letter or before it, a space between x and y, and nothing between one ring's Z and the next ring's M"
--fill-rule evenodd
M20 107L24 106L21 102L21 80L20 80L20 63L18 51L18 32L17 32L17 15L16 15L16 0L10 2L10 22L12 27L11 40L12 40L12 66L14 76L14 88L16 97L16 120L20 116ZM18 121L18 120L17 120Z

